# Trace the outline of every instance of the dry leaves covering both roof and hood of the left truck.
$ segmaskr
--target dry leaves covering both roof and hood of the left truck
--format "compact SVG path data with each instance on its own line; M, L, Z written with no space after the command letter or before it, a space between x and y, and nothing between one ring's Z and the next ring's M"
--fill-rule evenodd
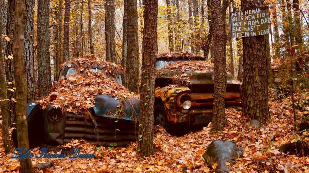
M67 64L68 62L64 63ZM139 99L139 96L130 92L120 85L116 79L124 69L120 65L104 62L93 57L74 59L70 61L71 67L77 72L69 76L62 76L60 81L55 82L50 95L56 94L57 98L50 100L50 95L38 101L44 110L50 103L56 108L75 114L83 114L89 108L94 107L95 96L105 94L116 99ZM88 68L100 67L102 72L95 72ZM106 74L106 75L105 75Z

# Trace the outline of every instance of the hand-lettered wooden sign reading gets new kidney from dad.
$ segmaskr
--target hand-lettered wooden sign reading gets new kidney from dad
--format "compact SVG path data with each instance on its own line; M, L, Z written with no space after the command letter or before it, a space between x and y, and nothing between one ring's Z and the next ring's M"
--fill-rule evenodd
M232 38L269 34L269 7L265 6L231 13L230 31Z

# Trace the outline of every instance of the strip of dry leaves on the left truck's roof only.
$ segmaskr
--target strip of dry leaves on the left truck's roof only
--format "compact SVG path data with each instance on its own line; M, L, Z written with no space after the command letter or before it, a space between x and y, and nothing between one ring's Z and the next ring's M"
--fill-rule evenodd
M65 67L68 63L68 67L74 67L78 72L89 70L90 68L101 68L110 77L116 77L123 74L125 69L121 65L114 64L112 62L102 61L93 55L87 55L84 58L72 59L68 62L64 62L61 67Z

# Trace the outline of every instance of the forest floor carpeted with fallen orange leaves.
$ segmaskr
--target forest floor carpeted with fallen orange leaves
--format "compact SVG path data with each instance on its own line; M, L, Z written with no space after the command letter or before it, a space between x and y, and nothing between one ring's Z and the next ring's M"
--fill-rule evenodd
M309 173L309 157L286 155L279 151L281 144L304 140L309 144L309 136L296 135L293 131L294 120L291 104L285 99L275 99L271 94L270 113L272 123L265 129L251 127L249 119L242 117L241 111L226 109L226 127L218 135L211 134L212 125L204 127L196 133L175 137L159 126L155 127L155 153L151 157L139 158L135 149L137 143L126 148L96 147L84 140L74 140L64 146L80 147L81 153L95 154L94 159L34 159L32 164L54 162L54 166L44 172L214 172L207 167L202 155L214 139L235 141L243 148L243 158L237 159L232 172L299 172ZM304 99L300 93L296 99ZM287 98L288 100L290 98ZM308 98L305 98L308 99ZM297 111L298 122L303 113ZM1 131L1 130L0 130ZM13 154L6 155L0 137L0 173L18 172L19 162L10 159ZM39 148L32 150L36 156ZM40 171L43 172L43 171Z

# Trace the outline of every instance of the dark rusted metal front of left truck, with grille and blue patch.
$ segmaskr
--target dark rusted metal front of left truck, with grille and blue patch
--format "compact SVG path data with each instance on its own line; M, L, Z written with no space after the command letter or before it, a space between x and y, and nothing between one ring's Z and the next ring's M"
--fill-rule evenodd
M68 63L61 70L58 78L67 75L70 68L70 63ZM102 67L96 66L95 68L101 69ZM117 81L122 84L121 79ZM72 139L86 139L98 146L129 145L138 139L136 127L138 127L140 101L128 99L122 102L124 107L121 116L117 112L121 100L109 95L96 95L95 106L90 108L85 115L76 115L49 104L36 115L36 118L42 118L40 123L43 124L41 128L43 128L44 137L41 136L41 142L45 145L57 146L68 143ZM29 102L29 109L34 108L32 103L39 104Z

